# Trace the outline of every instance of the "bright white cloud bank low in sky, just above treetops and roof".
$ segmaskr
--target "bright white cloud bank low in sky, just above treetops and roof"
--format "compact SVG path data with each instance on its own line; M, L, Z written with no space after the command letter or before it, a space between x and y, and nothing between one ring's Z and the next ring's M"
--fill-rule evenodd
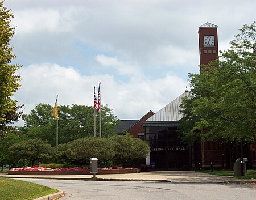
M93 86L101 80L102 104L108 104L119 118L141 118L149 110L158 111L185 90L185 82L167 74L159 79L133 79L117 82L113 76L82 76L72 67L43 63L22 67L22 87L14 98L25 103L25 112L36 104L53 105L59 95L61 105L93 105Z

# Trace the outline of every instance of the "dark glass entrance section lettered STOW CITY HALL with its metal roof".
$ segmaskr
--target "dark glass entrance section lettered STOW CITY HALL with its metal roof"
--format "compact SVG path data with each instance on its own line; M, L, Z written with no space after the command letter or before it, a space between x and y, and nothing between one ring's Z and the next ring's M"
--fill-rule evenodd
M180 103L188 90L148 118L143 126L145 140L151 147L147 164L163 170L188 169L189 150L181 144L177 126L181 119Z

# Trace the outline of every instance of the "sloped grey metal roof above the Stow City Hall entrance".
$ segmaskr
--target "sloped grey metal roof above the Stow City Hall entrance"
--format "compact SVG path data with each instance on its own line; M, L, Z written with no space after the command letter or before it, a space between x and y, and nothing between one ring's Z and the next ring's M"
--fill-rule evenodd
M153 116L148 118L145 122L164 122L164 121L179 121L182 118L180 113L180 104L184 96L188 96L189 92L186 90L182 95L173 100L166 107L160 109Z

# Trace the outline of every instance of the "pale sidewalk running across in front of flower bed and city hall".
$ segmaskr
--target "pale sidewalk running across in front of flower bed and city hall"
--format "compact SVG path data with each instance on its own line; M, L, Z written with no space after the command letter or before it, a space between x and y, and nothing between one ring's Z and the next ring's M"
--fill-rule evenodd
M141 173L126 173L113 175L8 175L0 173L2 178L47 178L47 179L67 179L67 180L94 180L94 181L160 181L173 182L179 184L218 184L218 183L241 183L253 182L255 179L241 180L236 178L209 175L206 173L193 171L159 171L159 172L141 172Z

